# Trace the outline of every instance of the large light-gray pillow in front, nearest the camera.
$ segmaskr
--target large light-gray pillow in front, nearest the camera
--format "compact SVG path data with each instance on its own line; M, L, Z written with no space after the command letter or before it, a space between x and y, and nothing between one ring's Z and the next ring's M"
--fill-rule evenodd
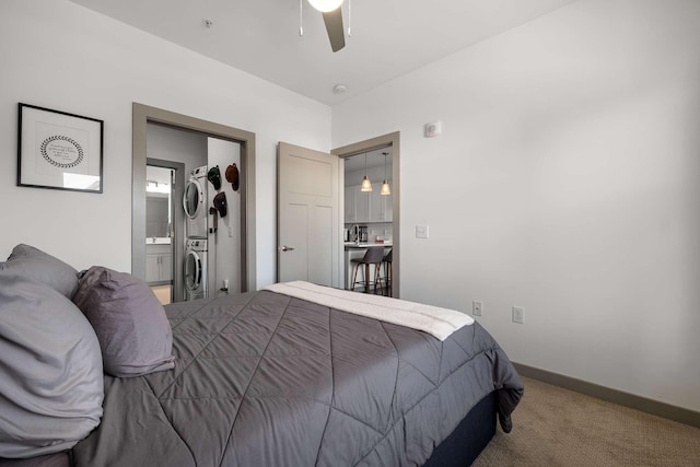
M57 291L0 271L0 457L71 448L100 424L100 342Z

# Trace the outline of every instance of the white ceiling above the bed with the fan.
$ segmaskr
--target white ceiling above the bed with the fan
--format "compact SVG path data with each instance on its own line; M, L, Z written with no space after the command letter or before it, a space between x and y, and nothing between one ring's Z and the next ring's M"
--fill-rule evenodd
M71 1L334 105L574 0L345 0L335 54L306 0Z

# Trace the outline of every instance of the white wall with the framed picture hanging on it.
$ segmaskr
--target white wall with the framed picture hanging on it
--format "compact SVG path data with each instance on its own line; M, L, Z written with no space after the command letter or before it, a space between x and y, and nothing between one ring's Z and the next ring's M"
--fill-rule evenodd
M131 270L131 104L256 133L257 285L275 281L276 144L330 148L330 108L66 0L0 5L0 257ZM105 121L104 194L18 187L18 103Z

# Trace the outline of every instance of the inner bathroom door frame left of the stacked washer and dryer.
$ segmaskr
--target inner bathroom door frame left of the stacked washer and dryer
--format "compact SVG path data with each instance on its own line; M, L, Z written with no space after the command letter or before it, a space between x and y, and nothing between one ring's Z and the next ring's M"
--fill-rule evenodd
M176 265L182 265L185 259L185 213L182 209L177 209L179 206L177 200L183 199L185 191L185 164L175 161L165 161L162 159L147 157L145 165L152 167L163 167L175 171L173 177L175 183L171 196L171 219L173 220L173 236L171 237L171 258L173 258L171 267L173 268L171 277L171 303L176 301L175 297L183 296L183 268L177 268ZM182 248L176 246L182 245ZM179 302L179 300L177 300Z

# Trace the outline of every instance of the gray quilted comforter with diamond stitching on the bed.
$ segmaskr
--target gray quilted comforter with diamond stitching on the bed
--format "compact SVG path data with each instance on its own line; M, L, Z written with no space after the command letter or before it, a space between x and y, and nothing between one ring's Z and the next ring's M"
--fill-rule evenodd
M498 390L523 386L478 324L444 342L272 292L166 306L175 369L105 380L77 466L421 465Z

